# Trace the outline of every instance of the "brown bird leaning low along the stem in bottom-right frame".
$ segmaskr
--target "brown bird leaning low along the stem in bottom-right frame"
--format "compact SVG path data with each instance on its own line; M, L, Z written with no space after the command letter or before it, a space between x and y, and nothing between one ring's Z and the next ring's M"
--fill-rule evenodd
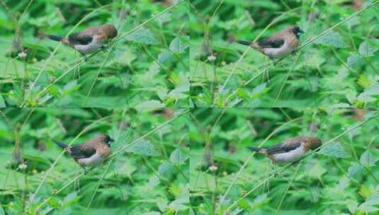
M299 161L307 151L318 149L321 144L321 140L317 137L295 136L268 149L251 146L248 149L263 154L273 163L283 165Z

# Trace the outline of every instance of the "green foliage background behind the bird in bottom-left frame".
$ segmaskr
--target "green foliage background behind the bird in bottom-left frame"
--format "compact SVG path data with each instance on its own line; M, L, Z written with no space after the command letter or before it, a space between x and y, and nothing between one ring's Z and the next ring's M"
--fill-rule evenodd
M0 214L186 214L185 111L0 110ZM115 139L113 153L125 151L84 175L52 142L79 144L99 134Z

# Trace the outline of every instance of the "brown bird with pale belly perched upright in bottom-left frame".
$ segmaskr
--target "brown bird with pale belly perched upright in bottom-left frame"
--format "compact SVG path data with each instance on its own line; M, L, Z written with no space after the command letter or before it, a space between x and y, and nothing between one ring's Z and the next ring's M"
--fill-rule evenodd
M99 135L83 144L75 144L72 146L54 140L55 144L67 151L69 156L74 158L82 168L85 166L94 167L103 163L103 161L111 155L110 142L113 141L114 140L108 135Z

